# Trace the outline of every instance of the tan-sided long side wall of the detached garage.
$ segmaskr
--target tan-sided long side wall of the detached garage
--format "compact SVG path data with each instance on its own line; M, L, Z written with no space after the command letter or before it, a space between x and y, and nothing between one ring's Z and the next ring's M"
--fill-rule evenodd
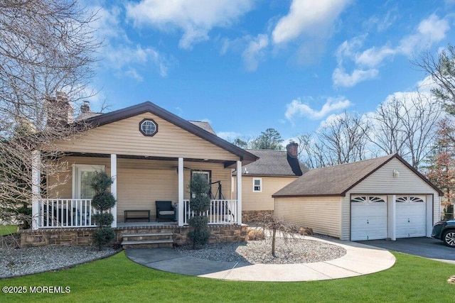
M341 197L278 197L274 212L291 224L340 238Z

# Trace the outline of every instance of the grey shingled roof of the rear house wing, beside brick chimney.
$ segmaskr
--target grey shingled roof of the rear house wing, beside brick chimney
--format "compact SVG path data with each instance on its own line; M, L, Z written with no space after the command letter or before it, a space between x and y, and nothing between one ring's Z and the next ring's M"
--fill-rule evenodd
M244 165L242 170L247 170L248 176L271 176L271 177L295 177L301 174L292 170L287 158L286 150L247 150L249 153L259 157L259 160ZM308 167L299 162L302 173L308 172ZM234 172L236 175L237 172Z

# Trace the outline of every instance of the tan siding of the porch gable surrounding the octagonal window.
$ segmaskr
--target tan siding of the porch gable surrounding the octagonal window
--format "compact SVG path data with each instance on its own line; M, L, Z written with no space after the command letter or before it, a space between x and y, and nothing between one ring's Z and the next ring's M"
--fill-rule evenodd
M142 119L153 119L158 124L158 133L151 137L142 135L139 131ZM60 141L56 145L61 150L79 153L239 160L227 150L153 114L140 114L92 128L71 141Z

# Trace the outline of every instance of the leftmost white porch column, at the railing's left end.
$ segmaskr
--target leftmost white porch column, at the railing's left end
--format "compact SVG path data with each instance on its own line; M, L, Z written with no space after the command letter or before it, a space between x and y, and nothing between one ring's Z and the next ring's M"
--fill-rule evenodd
M40 198L41 198L41 152L32 151L31 158L31 228L38 229L40 218Z

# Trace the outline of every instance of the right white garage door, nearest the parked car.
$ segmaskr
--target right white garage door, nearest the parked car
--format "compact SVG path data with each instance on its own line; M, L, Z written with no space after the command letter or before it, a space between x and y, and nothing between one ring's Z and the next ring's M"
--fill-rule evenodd
M425 196L397 196L397 238L426 236Z

